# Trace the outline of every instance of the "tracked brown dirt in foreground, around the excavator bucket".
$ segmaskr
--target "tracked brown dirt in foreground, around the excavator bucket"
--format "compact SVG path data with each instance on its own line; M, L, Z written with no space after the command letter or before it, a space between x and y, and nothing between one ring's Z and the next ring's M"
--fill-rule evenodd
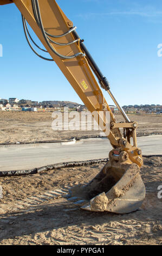
M90 181L102 166L1 178L0 245L161 245L162 157L144 158L146 198L125 215L84 211L65 198L70 187Z

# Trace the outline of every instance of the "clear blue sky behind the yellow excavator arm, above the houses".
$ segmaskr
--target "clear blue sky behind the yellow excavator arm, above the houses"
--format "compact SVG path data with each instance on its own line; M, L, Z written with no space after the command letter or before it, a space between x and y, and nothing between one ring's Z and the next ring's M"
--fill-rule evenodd
M161 0L57 0L111 83L121 105L162 105ZM25 39L14 4L0 7L0 98L81 103L55 63L41 60ZM105 93L104 93L105 94ZM107 102L112 104L105 94Z

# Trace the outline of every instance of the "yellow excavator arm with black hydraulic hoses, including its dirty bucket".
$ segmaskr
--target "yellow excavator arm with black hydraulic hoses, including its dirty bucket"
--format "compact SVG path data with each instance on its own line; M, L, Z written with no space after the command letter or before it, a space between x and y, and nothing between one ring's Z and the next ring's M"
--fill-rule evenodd
M86 188L80 188L79 194L85 194L87 191L84 197L86 204L82 208L117 213L137 209L145 197L145 188L139 175L143 162L141 150L137 147L138 124L129 120L120 107L111 92L107 78L103 76L83 40L76 33L73 22L67 18L56 1L0 0L0 5L9 3L14 3L22 14L25 36L32 50L34 49L29 42L27 22L50 54L51 59L48 60L54 60L88 110L92 114L95 113L96 123L102 124L101 129L112 144L113 150L109 153L109 162ZM124 117L123 123L116 123L101 88L106 90L113 99ZM110 113L110 120L107 118L107 112ZM110 126L108 133L107 125ZM133 144L131 144L131 138ZM111 179L113 180L111 186L106 187L106 183L108 184ZM95 189L92 191L94 186ZM131 191L133 199L127 198L128 191ZM76 190L73 191L73 196L75 194ZM79 196L79 198L82 197ZM121 202L124 203L121 204ZM116 206L113 207L112 204Z

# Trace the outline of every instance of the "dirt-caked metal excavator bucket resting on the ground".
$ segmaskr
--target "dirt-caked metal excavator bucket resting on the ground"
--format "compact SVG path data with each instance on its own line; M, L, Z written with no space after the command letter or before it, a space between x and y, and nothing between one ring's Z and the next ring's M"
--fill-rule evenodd
M76 186L68 200L82 209L127 214L137 210L145 199L145 186L135 163L108 161L86 186Z

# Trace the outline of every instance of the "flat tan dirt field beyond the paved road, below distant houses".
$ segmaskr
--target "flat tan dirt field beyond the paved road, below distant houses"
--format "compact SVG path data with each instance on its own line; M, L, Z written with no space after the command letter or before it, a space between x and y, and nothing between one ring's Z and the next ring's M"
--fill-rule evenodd
M162 134L161 115L128 115L138 121L138 136ZM123 121L120 114L116 121ZM51 129L52 112L0 111L0 144L60 141L69 138L100 136L101 131L54 131ZM102 133L103 136L103 133Z

